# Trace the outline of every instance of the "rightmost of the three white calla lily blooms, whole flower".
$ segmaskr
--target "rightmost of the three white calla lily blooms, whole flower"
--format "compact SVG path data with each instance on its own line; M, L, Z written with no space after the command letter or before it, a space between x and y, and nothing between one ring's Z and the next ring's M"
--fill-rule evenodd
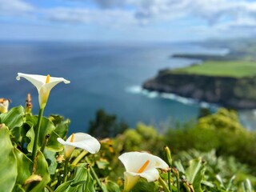
M146 178L147 182L157 181L159 178L157 168L169 169L162 158L145 152L128 152L120 155L119 160L126 168L124 191L130 191L140 177Z

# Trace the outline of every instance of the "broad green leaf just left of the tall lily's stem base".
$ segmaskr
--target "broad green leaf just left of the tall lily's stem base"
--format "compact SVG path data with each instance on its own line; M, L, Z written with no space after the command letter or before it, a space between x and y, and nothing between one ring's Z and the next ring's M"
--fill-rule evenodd
M18 177L16 183L23 185L32 173L33 162L20 150L14 149L17 159Z

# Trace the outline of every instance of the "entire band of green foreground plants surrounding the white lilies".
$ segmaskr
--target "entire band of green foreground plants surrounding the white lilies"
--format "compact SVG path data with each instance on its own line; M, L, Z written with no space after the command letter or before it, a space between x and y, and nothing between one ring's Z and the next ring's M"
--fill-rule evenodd
M3 191L123 191L125 169L118 157L136 150L158 155L169 168L159 170L160 178L154 182L139 178L131 192L253 192L256 187L256 134L241 126L235 111L205 113L198 122L170 128L163 134L139 123L135 129L119 129L114 138L102 139L98 153L76 149L68 160L63 158L67 149L63 150L57 138L66 140L70 121L59 115L42 117L40 150L34 162L31 151L38 116L26 111L18 106L0 114ZM102 130L100 125L113 120L113 115L104 112L100 116L105 117L98 123ZM110 122L118 124L115 119ZM138 163L136 159L130 161Z

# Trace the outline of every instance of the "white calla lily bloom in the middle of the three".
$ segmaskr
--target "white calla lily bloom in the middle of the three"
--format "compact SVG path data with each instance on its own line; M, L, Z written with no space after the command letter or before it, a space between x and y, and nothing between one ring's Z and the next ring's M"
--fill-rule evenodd
M101 144L96 138L84 133L71 134L66 139L66 142L62 138L57 138L57 140L64 146L66 158L70 158L75 147L87 150L91 154L96 154L101 147Z

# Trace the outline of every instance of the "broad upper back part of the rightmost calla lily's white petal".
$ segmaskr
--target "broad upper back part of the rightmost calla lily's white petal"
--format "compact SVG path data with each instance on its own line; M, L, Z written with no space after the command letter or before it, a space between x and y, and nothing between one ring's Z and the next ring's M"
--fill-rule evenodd
M150 161L146 170L160 168L162 170L167 170L169 166L162 160L153 154L148 154L145 152L128 152L119 156L120 161L126 167L126 171L138 173L138 170L145 164L146 161Z

